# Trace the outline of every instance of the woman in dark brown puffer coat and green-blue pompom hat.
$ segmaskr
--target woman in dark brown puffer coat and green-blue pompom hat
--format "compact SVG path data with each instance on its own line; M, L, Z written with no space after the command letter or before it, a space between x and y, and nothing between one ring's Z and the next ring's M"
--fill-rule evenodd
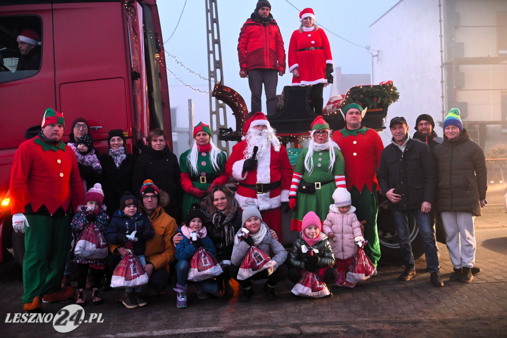
M444 142L433 148L438 171L435 206L442 214L454 272L450 281L474 279L476 239L474 218L485 207L488 189L484 152L463 129L459 109L444 120Z

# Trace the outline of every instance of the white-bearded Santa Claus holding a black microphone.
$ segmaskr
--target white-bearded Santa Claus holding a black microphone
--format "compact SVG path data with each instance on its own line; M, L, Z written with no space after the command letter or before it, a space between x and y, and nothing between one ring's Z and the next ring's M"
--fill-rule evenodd
M236 200L243 205L247 198L254 199L264 222L283 243L280 205L288 204L293 173L287 150L262 112L246 122L241 139L225 165L227 174L239 182Z

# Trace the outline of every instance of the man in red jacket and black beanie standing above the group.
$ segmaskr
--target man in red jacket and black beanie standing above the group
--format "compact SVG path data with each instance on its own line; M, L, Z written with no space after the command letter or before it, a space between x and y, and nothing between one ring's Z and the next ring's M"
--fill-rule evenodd
M285 73L285 49L269 1L259 1L241 27L238 39L239 76L248 78L252 112L262 111L262 86L268 115L276 114L276 85Z

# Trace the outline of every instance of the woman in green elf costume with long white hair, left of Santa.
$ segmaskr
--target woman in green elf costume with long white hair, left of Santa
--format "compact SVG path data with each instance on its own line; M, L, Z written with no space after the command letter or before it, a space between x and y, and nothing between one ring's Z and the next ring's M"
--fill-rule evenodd
M179 157L183 190L183 216L194 202L200 202L214 185L224 185L227 155L211 140L209 125L199 122L194 128L194 145Z

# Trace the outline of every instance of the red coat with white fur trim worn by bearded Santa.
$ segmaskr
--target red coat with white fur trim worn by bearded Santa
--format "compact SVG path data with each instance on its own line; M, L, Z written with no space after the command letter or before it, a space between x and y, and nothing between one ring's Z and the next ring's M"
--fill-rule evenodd
M271 151L258 159L257 169L243 173L245 162L244 150L246 141L241 141L232 148L232 154L225 165L226 172L238 182L244 184L271 183L281 180L281 186L264 194L257 194L256 190L238 186L236 199L242 206L247 198L256 200L259 210L277 208L281 202L288 201L288 192L291 189L292 166L288 160L287 150L280 144L279 151L271 146Z

